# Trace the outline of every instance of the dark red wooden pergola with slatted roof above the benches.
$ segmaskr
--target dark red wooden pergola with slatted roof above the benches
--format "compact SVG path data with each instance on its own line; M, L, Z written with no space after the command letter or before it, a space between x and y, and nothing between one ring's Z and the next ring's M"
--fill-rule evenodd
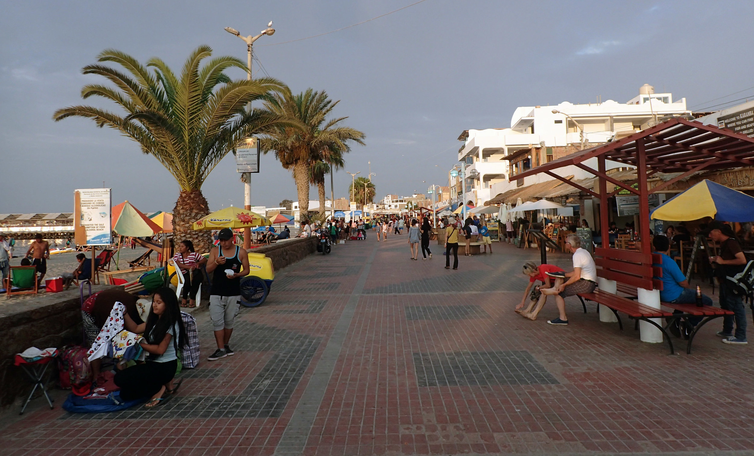
M584 161L590 158L597 158L596 170L584 164ZM605 161L607 160L636 167L638 179L633 182L621 182L618 179L611 178L605 169ZM636 272L633 273L637 279L633 282L641 288L654 289L651 273L646 272L651 271L652 261L651 245L648 242L650 233L649 194L662 192L664 188L700 170L723 170L747 165L754 165L754 138L712 125L704 125L697 121L673 118L618 141L597 145L542 164L532 170L517 174L515 178L523 179L526 176L545 173L584 191L584 193L599 198L601 204L599 225L603 234L608 226L608 211L605 210L608 207L608 198L615 196L622 190L638 195L639 227L637 231L642 239L640 252L610 249L609 237L603 235L602 249L599 249L596 254L602 256L602 263L605 263L605 259L608 262L609 259L621 259L642 266L642 268L636 268ZM599 191L584 188L566 179L566 177L553 173L553 170L567 166L579 167L598 177ZM648 190L647 179L654 173L681 174ZM608 193L608 182L618 188ZM633 185L636 185L636 188ZM630 253L633 253L633 255L630 255ZM611 275L609 271L611 268L605 268L605 265L603 265L603 270L605 269L608 270L605 271L605 277L610 278L608 276ZM621 279L625 279L624 274L632 274L632 269L629 265L622 264L616 271L621 270ZM654 283L654 285L661 286L657 283Z

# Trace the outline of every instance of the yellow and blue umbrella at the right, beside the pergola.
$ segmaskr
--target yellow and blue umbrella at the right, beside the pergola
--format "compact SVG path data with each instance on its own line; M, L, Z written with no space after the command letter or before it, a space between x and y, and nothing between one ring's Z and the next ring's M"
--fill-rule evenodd
M704 179L651 211L651 218L682 222L703 217L725 222L754 221L754 197Z

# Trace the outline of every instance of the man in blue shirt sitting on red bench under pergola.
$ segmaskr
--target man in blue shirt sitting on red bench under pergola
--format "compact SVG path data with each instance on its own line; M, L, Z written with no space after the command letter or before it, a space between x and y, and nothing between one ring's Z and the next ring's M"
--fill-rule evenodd
M652 240L652 246L654 247L654 252L662 256L662 262L654 264L654 266L662 268L662 277L654 277L662 280L660 300L670 302L671 304L695 304L697 301L696 289L691 288L676 261L668 256L668 252L670 252L670 240L665 236L655 236ZM711 306L712 298L702 295L702 304ZM673 313L677 314L679 312L674 311ZM689 317L688 323L697 326L701 320L702 317ZM673 332L675 332L674 329L671 328Z

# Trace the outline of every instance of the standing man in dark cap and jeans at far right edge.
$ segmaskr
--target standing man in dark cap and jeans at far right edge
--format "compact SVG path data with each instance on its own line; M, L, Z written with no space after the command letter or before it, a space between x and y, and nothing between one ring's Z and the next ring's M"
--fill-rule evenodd
M710 256L710 262L716 264L715 275L720 283L720 308L733 311L733 315L722 317L722 331L717 335L723 337L725 344L747 344L746 342L746 309L740 295L735 295L728 288L728 279L743 271L746 265L746 256L743 254L740 243L735 238L731 225L713 220L707 227L710 237L720 243L720 255ZM736 323L736 332L733 332L733 323Z

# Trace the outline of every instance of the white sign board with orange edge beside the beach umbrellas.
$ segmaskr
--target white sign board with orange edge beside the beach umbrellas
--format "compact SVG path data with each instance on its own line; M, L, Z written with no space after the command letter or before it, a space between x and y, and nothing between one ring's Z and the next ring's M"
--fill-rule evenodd
M81 188L74 191L73 219L76 243L107 246L112 243L110 189Z

